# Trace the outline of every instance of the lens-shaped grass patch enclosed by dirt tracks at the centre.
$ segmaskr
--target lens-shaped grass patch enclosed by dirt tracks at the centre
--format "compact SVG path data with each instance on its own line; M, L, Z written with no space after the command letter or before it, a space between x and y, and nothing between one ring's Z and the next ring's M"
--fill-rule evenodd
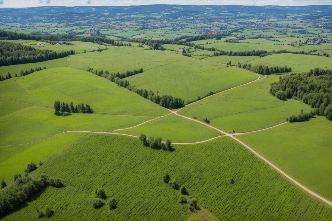
M210 127L175 114L160 117L140 126L116 132L135 136L143 133L147 138L150 136L154 138L161 137L163 141L169 139L173 143L203 141L220 135L220 132Z

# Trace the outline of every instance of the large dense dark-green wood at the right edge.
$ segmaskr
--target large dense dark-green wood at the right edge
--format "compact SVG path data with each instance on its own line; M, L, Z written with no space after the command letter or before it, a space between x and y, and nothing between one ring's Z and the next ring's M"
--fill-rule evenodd
M271 83L270 94L280 100L294 98L315 108L314 115L332 120L332 70L320 68L294 73Z

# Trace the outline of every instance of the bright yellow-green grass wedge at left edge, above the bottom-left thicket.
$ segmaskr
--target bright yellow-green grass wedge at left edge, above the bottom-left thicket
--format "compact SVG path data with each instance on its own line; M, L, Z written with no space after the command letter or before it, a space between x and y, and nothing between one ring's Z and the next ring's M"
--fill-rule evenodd
M14 175L23 175L30 162L45 162L86 134L64 133L36 143L0 147L0 180L14 181Z

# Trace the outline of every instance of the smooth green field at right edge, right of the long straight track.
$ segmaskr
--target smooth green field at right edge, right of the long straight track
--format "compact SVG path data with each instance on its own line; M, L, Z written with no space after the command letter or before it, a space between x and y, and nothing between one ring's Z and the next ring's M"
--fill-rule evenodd
M331 134L332 122L316 116L238 138L300 184L332 200Z

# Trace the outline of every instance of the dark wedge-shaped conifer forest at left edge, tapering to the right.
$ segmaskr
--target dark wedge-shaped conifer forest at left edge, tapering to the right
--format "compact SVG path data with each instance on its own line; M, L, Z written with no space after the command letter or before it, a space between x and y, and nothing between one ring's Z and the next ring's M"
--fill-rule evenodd
M38 50L31 46L14 42L0 42L0 66L35 63L66 57L70 54L75 54L75 51Z

